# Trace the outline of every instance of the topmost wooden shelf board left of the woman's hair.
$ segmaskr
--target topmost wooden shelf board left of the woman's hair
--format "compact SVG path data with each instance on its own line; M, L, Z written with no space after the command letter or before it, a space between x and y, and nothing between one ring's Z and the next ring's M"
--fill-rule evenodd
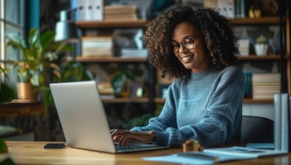
M116 19L104 21L77 21L75 25L79 28L142 28L146 25L145 19Z

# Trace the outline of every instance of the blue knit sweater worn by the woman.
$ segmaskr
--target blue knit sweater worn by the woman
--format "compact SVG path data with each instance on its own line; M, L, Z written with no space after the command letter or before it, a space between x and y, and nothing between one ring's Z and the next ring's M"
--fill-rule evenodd
M181 147L189 139L203 146L239 142L244 74L235 66L205 69L190 80L177 78L169 87L159 117L133 131L154 131L158 144Z

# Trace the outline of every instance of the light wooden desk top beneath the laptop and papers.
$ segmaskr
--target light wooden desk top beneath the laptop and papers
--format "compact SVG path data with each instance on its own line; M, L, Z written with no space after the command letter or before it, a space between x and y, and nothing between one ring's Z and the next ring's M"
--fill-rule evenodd
M0 158L10 156L15 164L109 164L109 165L151 165L168 164L143 161L142 157L169 155L182 151L179 148L137 153L111 154L87 151L65 146L61 149L43 149L47 142L6 142L9 154L0 154ZM291 153L276 157L261 157L244 161L225 162L222 164L288 164Z

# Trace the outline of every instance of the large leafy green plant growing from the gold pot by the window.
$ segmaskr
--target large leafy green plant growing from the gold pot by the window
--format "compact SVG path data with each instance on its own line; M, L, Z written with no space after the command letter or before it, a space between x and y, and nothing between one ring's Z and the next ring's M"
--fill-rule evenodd
M41 34L36 28L30 30L26 40L9 34L7 45L21 51L23 56L17 60L1 61L17 69L19 82L31 83L37 87L37 91L42 91L41 101L45 107L45 118L50 115L49 108L53 104L47 81L50 81L51 74L61 77L61 68L54 62L63 52L72 50L66 43L54 43L55 35L52 30Z

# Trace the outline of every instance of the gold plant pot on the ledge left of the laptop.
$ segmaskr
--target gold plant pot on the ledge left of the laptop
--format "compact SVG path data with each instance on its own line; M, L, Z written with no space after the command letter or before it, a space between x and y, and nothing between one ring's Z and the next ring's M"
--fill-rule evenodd
M17 83L17 97L21 100L36 100L37 92L31 83Z

